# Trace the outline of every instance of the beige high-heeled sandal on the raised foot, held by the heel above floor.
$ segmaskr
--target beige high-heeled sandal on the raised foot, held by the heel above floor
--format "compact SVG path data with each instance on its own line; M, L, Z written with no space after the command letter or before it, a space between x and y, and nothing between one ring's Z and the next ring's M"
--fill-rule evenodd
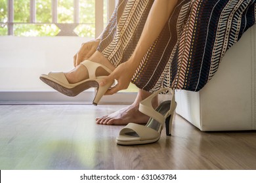
M97 105L104 93L112 86L114 80L105 86L99 86L100 81L106 76L96 76L96 69L101 67L109 74L112 73L112 71L100 63L89 60L85 60L80 64L84 65L89 73L89 78L81 82L70 84L63 72L51 72L48 75L41 75L40 79L58 92L70 97L74 97L89 88L98 88L95 99L93 100L93 104Z

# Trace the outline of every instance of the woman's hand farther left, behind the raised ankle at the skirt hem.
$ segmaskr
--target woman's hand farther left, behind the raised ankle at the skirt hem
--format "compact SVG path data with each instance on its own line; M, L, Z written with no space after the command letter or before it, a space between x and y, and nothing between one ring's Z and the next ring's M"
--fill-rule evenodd
M74 67L79 65L79 63L81 63L85 59L90 58L96 52L96 48L98 48L98 44L100 44L100 39L84 42L81 45L81 48L79 49L77 54L75 54L74 56Z

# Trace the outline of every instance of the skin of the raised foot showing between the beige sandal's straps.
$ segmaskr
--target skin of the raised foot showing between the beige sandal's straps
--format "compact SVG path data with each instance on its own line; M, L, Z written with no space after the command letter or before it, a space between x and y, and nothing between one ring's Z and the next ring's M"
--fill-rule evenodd
M90 58L90 61L94 61L96 63L100 63L104 65L105 67L108 67L110 70L114 70L115 67L106 59L100 52L96 51ZM77 65L72 71L64 73L69 83L77 83L81 80L85 80L89 78L87 68L84 65ZM98 68L96 71L96 75L98 76L104 76L108 75L106 71L103 68Z

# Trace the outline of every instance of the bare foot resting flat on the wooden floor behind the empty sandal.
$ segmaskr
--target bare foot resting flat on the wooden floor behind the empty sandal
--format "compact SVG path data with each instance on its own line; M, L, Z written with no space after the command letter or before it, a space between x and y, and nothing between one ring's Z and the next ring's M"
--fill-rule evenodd
M139 111L139 103L143 99L146 99L151 95L151 93L145 92L144 90L139 90L137 94L137 98L134 103L127 108L123 108L121 110L117 110L116 112L109 114L108 116L102 116L100 118L96 118L96 124L103 125L126 125L129 123L135 124L146 124L148 122L149 117L145 114L142 114ZM158 97L155 97L152 100L152 106L154 108L158 107Z

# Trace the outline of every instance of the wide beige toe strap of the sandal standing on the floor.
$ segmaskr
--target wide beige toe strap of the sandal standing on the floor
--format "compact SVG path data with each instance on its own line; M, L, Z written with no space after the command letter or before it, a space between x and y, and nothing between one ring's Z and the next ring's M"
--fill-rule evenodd
M140 141L156 139L160 135L160 133L158 131L156 131L150 127L146 127L144 125L139 125L139 124L129 123L125 127L123 127L123 129L121 129L121 131L119 132L119 136L121 136L121 135L127 136L133 132L137 133L137 135L140 138ZM132 135L129 135L129 136L132 136Z

